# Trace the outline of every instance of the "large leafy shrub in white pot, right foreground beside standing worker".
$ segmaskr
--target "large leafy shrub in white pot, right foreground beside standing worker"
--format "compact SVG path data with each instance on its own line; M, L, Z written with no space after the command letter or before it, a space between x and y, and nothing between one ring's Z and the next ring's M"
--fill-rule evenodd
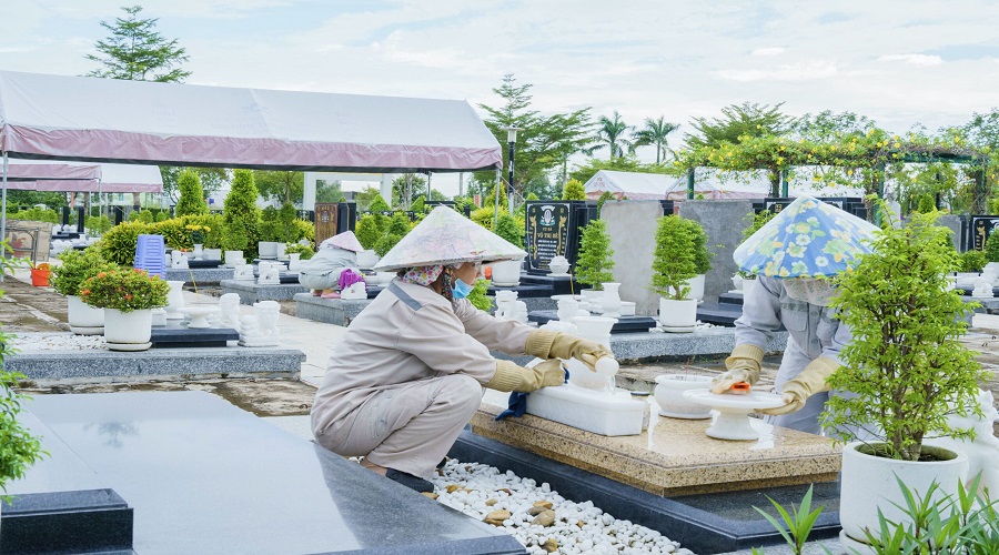
M852 341L827 384L854 395L833 396L823 421L840 441L854 441L844 448L840 482L840 521L851 541L877 531L879 511L896 522L902 517L895 476L921 494L934 482L941 494L953 493L967 456L924 440L973 436L951 427L947 416L981 416L978 383L989 374L959 341L969 307L948 290L958 254L950 231L935 219L917 214L905 228L877 232L874 252L836 278L831 305Z

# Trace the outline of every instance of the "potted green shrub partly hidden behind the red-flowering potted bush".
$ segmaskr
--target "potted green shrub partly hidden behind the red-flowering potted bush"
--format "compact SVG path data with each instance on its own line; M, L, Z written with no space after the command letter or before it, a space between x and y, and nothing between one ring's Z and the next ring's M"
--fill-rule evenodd
M57 293L65 295L67 320L77 335L100 335L104 333L104 310L94 309L80 299L80 284L99 272L118 270L97 249L85 251L63 251L59 254L61 265L52 269L52 286Z

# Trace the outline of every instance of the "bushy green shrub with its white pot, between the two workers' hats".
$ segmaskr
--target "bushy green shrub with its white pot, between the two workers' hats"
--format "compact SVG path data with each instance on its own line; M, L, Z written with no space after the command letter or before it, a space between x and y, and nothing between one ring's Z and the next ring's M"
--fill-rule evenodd
M697 275L693 228L678 215L659 218L653 255L652 289L662 295L659 322L667 331L693 331L697 301L690 299L689 280Z

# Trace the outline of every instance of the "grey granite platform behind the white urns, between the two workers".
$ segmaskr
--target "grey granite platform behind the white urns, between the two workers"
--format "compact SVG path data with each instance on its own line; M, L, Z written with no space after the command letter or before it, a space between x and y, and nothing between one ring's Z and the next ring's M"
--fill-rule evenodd
M767 344L766 352L783 352L787 346L787 332L777 332ZM610 350L619 361L680 360L694 355L725 355L735 347L734 327L705 327L692 333L615 333L610 335ZM493 356L524 365L531 356L509 356L493 351Z

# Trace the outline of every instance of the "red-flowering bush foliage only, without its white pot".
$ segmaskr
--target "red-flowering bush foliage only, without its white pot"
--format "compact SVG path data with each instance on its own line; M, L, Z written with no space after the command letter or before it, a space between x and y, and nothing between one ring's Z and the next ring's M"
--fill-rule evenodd
M80 299L97 309L121 312L167 306L170 285L145 270L98 272L80 284Z

